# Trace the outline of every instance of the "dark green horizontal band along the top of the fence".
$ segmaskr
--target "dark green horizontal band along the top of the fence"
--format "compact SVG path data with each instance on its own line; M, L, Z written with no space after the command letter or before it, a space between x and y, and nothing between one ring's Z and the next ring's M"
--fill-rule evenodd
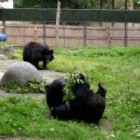
M61 9L61 22L131 22L140 23L139 10ZM47 21L56 20L56 9L0 9L0 20Z

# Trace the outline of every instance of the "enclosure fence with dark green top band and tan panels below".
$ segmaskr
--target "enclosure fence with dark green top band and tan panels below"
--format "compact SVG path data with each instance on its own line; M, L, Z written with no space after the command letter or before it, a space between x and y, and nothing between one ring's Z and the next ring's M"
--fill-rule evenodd
M58 46L138 46L140 11L61 9ZM56 9L0 9L1 32L18 46L55 45Z

